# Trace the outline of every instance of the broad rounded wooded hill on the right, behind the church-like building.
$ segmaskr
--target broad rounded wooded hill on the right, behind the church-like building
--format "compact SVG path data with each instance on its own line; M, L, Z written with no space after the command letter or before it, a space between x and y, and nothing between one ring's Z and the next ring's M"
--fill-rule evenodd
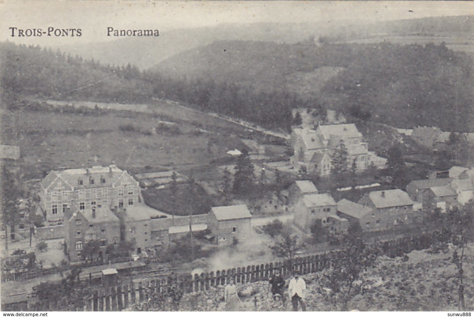
M472 69L471 57L444 44L228 41L178 54L154 71L199 81L192 89L205 96L216 84L236 85L397 127L463 131L474 122Z

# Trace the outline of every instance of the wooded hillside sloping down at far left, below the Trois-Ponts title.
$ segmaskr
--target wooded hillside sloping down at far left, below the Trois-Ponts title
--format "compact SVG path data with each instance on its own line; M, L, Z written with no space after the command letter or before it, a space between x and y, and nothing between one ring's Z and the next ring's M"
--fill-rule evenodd
M101 65L94 60L45 50L38 46L0 43L1 87L4 98L29 95L61 100L141 102L151 85L140 71Z

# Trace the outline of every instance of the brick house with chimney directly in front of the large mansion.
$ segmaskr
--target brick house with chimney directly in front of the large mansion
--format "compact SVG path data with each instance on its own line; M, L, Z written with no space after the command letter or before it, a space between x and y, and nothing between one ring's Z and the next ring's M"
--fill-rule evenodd
M71 262L84 260L82 250L90 241L99 241L100 250L94 260L105 258L105 249L120 240L120 220L107 207L87 206L79 209L75 204L64 212L65 250Z

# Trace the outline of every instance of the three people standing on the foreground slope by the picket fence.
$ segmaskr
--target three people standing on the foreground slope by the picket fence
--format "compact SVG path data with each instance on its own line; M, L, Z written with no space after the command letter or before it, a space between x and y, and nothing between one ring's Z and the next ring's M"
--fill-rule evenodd
M286 293L292 301L293 311L298 311L298 306L301 306L302 311L306 311L306 304L304 302L304 292L306 291L306 283L300 277L299 273L293 273L288 287L280 271L275 269L273 275L268 280L269 291L272 292L273 300L282 301L283 307L286 308ZM286 291L288 290L288 291ZM229 284L224 289L224 299L226 301L226 310L239 310L240 299L237 293L237 287L233 279L229 280Z

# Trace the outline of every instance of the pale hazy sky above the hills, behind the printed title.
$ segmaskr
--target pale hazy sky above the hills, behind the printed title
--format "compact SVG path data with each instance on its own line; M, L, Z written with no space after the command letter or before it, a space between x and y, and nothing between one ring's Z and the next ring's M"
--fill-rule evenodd
M107 27L159 29L221 23L314 22L458 16L474 14L472 1L18 1L0 3L0 40L55 45L113 40ZM74 38L11 37L9 27L81 28Z

